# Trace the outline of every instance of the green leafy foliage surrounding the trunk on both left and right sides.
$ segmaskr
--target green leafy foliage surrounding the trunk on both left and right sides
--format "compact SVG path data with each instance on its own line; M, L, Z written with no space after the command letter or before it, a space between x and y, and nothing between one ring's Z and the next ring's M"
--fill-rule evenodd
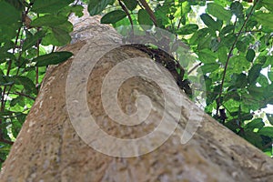
M196 56L194 68L205 77L207 114L273 155L273 116L254 115L273 105L271 0L83 2L90 15L105 11L102 23L155 25L176 35ZM72 56L54 50L71 41L73 25L68 16L82 15L83 6L77 4L74 0L0 0L1 163L34 103L46 66ZM197 15L198 9L205 12ZM187 60L176 58L189 72ZM196 79L187 74L189 80Z

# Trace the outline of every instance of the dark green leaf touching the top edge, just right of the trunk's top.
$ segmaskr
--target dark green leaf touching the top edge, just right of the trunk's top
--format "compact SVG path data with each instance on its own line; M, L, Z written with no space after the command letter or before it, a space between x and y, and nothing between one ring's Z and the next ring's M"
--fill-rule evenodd
M100 14L107 5L113 5L115 0L92 0L89 1L87 10L90 15Z

